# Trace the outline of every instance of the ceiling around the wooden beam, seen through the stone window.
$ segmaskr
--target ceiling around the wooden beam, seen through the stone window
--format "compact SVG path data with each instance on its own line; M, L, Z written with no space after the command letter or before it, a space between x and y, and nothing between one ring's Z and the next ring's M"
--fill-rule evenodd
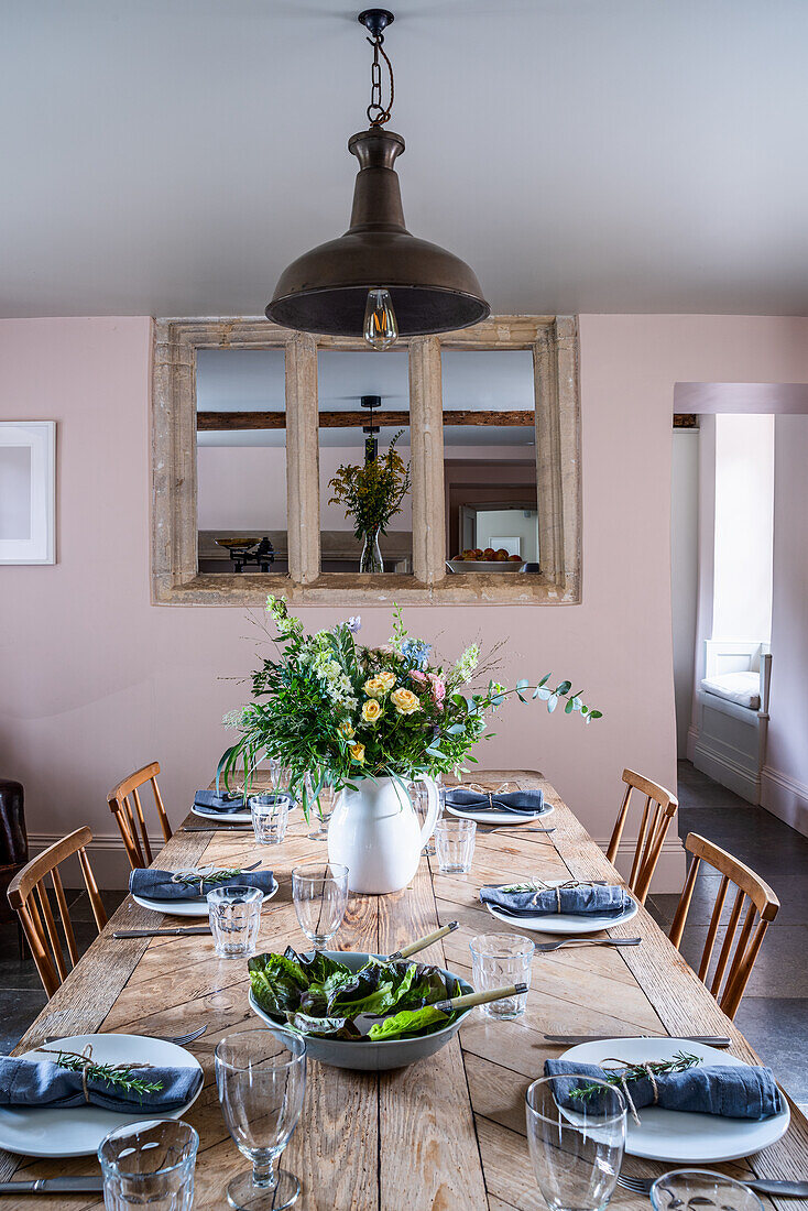
M445 350L443 409L466 412L532 412L533 357L529 350ZM385 412L409 407L406 350L384 354L317 355L317 397L322 412L357 412L363 395L382 397ZM285 363L280 349L200 349L196 355L199 412L281 412L285 407ZM383 427L388 442L396 429ZM357 446L360 429L321 429L321 446ZM533 429L509 425L446 425L446 446L528 446ZM283 446L285 430L206 430L200 446ZM409 444L405 426L401 446Z

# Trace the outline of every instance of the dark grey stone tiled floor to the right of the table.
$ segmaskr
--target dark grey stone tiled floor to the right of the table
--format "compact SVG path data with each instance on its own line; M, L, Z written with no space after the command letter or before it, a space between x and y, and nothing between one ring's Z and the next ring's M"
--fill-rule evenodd
M689 762L678 767L678 832L698 832L751 866L778 895L781 908L769 928L735 1016L764 1063L800 1103L808 1102L808 838L763 808L711 781ZM682 939L698 964L720 878L703 866ZM732 896L726 914L732 907ZM648 909L669 929L676 895L654 895ZM720 932L718 939L722 934ZM717 948L716 948L717 949Z

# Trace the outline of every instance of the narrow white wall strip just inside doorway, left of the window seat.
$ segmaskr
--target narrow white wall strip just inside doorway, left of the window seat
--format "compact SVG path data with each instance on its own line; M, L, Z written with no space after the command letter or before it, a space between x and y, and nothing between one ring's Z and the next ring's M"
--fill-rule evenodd
M676 748L687 752L699 574L699 430L675 429L671 450L671 622Z

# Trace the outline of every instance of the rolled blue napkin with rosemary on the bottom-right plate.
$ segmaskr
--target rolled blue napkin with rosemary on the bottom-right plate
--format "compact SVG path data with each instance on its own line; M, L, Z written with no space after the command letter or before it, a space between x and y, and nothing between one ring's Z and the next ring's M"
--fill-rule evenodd
M545 1060L544 1072L546 1077L584 1077L589 1080L592 1078L603 1080L607 1075L597 1064L577 1063L574 1060ZM727 1119L753 1120L772 1118L783 1109L780 1090L770 1068L715 1064L688 1068L687 1072L659 1073L654 1080L658 1089L657 1098L647 1077L629 1083L631 1101L637 1109L655 1104L664 1110L687 1110L689 1114L718 1114ZM562 1106L581 1104L571 1097L572 1090L578 1084L577 1079L554 1081L555 1095ZM596 1098L585 1104L596 1106Z

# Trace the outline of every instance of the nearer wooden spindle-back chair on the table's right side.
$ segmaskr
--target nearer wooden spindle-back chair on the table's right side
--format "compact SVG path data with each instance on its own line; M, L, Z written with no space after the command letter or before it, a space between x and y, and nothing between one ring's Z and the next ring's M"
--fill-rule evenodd
M693 862L690 863L687 882L682 889L676 916L674 917L670 940L678 948L690 908L690 901L693 900L699 867L701 862L709 862L723 878L718 888L718 895L716 896L712 917L710 918L707 937L699 965L699 980L707 983L710 962L721 925L721 914L729 884L732 883L737 889L735 901L727 920L727 931L709 987L727 1017L734 1017L749 977L752 974L763 935L777 917L780 901L768 883L764 883L763 879L755 874L755 871L751 871L749 866L744 866L732 854L728 854L726 849L714 845L706 837L699 837L698 833L689 833L684 842L684 848L693 854ZM744 905L746 905L746 916L741 925ZM740 932L738 932L738 937L735 939L739 925ZM735 942L734 951L733 941Z

